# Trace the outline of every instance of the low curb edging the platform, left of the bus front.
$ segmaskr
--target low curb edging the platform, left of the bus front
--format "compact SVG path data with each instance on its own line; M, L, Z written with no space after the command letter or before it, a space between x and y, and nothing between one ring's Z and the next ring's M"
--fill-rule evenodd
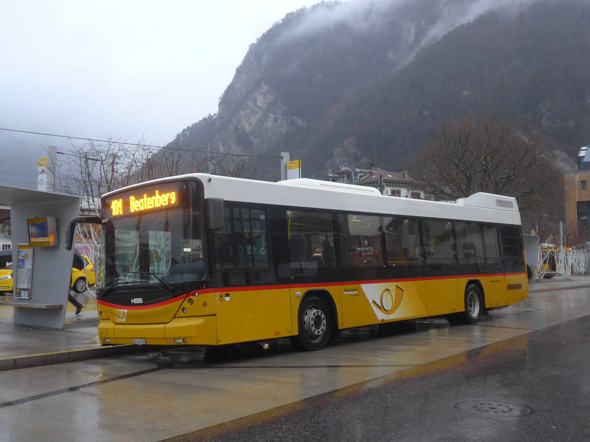
M132 353L143 353L152 351L154 348L159 347L153 345L125 344L0 358L0 371L40 367L41 365L65 364L66 362L87 361L89 359L109 358Z

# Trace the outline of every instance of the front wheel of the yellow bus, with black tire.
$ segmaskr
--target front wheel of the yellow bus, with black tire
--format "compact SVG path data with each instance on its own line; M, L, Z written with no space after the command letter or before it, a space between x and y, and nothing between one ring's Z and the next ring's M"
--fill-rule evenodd
M306 296L299 306L299 335L291 343L302 350L319 350L327 344L331 331L332 316L326 301Z

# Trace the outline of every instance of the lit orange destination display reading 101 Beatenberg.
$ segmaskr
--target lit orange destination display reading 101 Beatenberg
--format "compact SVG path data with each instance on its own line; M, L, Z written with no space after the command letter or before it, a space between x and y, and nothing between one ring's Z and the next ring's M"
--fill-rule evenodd
M107 199L113 217L179 206L178 186L135 189Z

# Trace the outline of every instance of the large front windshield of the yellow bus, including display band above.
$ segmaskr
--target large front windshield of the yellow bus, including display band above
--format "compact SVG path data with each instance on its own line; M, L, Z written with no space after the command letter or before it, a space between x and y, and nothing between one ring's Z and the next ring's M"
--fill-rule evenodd
M176 184L173 203L169 199L162 207L145 204L146 209L130 210L126 206L127 201L140 200L141 196L146 201L153 194L160 197L162 193L151 188L106 200L103 210L111 210L120 202L116 210L121 214L110 217L113 232L101 240L101 255L106 258L100 269L103 295L107 294L104 289L137 284L159 284L172 294L177 283L204 277L201 199L190 197L186 187L181 189Z

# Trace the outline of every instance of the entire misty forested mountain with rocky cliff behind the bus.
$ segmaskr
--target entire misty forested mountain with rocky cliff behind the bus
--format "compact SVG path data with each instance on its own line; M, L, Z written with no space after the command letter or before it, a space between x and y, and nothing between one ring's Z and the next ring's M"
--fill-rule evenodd
M478 3L369 2L349 15L335 3L293 12L251 45L219 112L175 142L289 151L303 160L304 176L322 179L345 161L411 170L443 124L491 112L573 164L590 133L590 3L524 1L454 25L450 18ZM261 102L266 108L256 108ZM253 109L259 119L244 122ZM276 180L274 169L258 173Z

